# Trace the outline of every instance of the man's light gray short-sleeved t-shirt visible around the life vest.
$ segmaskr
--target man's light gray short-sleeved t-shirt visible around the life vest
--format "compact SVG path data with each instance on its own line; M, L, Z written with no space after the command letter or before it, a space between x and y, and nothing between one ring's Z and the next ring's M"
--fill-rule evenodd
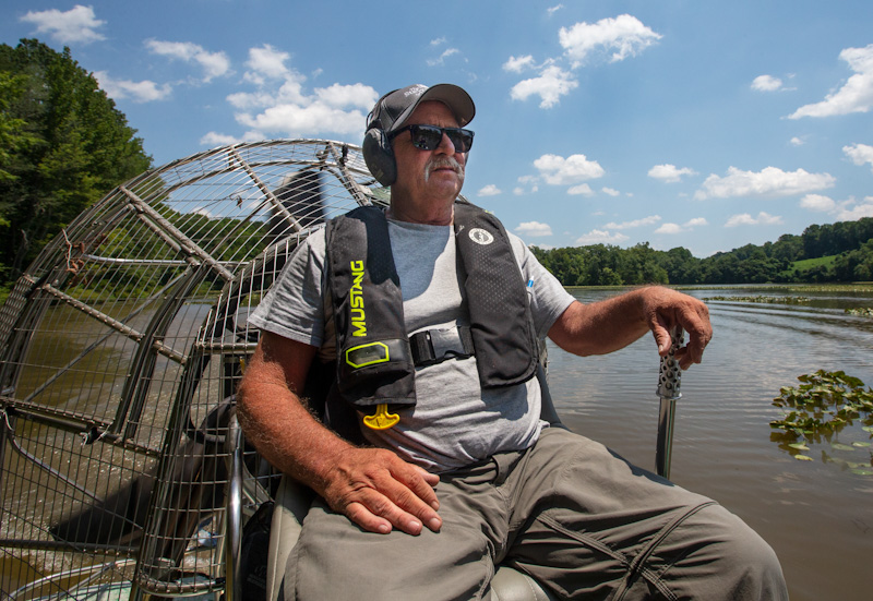
M400 279L406 328L468 325L466 292L456 269L452 226L388 220ZM537 335L545 338L573 297L525 247L510 235L526 281ZM319 347L322 360L336 359L330 289L324 274L324 229L313 232L289 259L278 281L249 317L264 330ZM394 449L429 471L456 469L504 450L534 444L542 422L537 378L517 386L482 389L476 359L449 359L416 370L417 404L398 411L390 430L362 426L367 441ZM360 417L360 416L359 416Z

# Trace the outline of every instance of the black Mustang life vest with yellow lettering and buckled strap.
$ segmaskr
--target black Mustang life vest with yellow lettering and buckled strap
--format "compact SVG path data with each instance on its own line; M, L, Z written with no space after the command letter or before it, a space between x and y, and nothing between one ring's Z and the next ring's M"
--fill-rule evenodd
M536 374L539 344L506 231L497 217L462 201L455 203L454 231L470 325L410 337L384 212L359 207L327 223L335 388L359 411L414 406L416 366L450 358L475 354L482 388Z

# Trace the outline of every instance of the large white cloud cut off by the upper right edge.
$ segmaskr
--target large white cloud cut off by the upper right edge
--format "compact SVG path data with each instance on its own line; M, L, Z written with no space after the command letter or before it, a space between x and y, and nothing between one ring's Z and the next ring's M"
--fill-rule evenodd
M849 64L854 75L824 100L800 107L788 116L789 119L868 112L873 107L873 44L864 48L846 48L839 58Z

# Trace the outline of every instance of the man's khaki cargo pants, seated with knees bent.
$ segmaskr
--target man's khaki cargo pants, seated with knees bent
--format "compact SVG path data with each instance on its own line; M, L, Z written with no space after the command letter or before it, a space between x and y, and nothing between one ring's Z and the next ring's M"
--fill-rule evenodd
M773 550L715 502L560 428L444 474L443 527L364 532L316 503L283 585L291 600L490 599L509 563L566 599L788 599Z

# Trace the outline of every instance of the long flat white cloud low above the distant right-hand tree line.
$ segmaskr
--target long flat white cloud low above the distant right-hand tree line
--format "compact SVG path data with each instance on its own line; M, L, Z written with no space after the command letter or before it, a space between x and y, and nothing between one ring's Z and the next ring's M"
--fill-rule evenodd
M730 167L723 178L715 173L706 178L694 197L702 201L731 196L790 196L832 188L836 181L830 173L810 173L803 169L782 171L766 167L754 172Z

